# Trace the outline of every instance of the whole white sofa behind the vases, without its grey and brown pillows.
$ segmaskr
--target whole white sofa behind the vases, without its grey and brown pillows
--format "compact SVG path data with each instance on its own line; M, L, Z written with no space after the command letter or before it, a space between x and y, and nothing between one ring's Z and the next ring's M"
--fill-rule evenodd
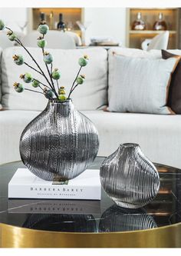
M40 49L29 48L29 50L38 62L44 65ZM86 75L86 82L74 91L72 98L75 107L87 115L99 131L98 155L110 155L120 143L135 142L151 161L181 168L179 115L113 113L103 110L108 105L111 88L114 86L112 52L117 51L134 57L160 58L160 51L144 52L128 48L112 48L109 52L103 48L50 51L54 56L54 67L61 70L61 85L64 85L67 91L78 69L77 59L84 54L89 55L89 64L82 72ZM181 55L181 51L172 52ZM42 95L28 91L21 94L15 92L13 83L19 81L20 74L30 70L25 65L15 65L12 61L14 54L24 54L24 51L17 47L7 48L1 55L0 103L5 109L0 111L1 164L20 160L18 144L21 132L47 104L47 100ZM25 58L33 65L28 55L25 55ZM31 73L35 78L40 78L36 72Z

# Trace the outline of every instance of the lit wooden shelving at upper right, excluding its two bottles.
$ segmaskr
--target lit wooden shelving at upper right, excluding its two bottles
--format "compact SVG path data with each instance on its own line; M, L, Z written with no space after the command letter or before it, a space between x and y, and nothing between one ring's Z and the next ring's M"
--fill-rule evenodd
M137 18L137 12L141 12L142 19L146 22L146 30L131 30L133 21ZM145 39L163 33L163 31L153 30L153 24L158 19L159 13L163 13L169 31L168 48L178 48L179 45L179 8L129 8L127 10L127 47L141 48L141 43Z

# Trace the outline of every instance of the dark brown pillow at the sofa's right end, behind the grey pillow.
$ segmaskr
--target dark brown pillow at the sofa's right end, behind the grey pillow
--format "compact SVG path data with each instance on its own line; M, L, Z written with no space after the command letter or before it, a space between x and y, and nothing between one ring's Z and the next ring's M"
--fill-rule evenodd
M162 50L163 59L175 56L178 55L173 55L173 53ZM167 105L169 108L172 108L176 114L181 114L181 60L179 61L175 71L172 74L172 79L169 85Z

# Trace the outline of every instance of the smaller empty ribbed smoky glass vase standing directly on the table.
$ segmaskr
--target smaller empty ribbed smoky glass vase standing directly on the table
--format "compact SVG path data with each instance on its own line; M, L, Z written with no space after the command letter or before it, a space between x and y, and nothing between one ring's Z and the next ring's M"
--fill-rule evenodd
M140 208L156 197L160 188L158 171L143 155L140 146L120 145L100 167L104 191L123 208Z

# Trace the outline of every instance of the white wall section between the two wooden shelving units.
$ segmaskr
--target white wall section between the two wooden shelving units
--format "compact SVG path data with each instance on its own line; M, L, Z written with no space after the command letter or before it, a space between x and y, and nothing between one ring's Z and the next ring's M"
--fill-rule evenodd
M126 45L126 8L85 8L84 21L90 22L86 39L91 37L111 37Z

